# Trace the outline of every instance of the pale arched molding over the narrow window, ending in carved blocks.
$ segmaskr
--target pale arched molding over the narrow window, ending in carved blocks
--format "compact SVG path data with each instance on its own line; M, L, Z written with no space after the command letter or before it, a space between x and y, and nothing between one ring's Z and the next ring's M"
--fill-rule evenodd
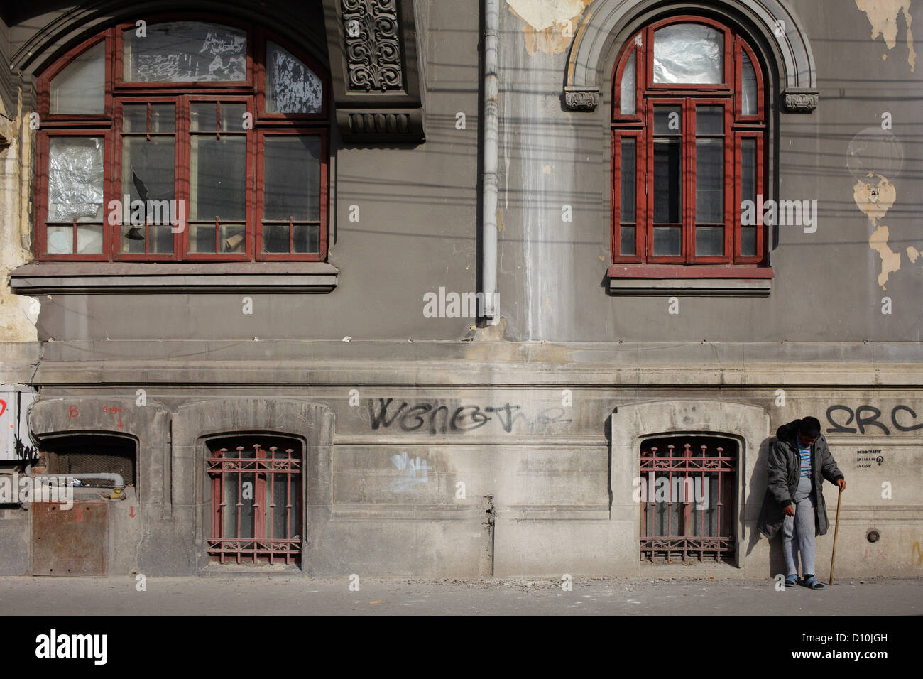
M818 105L817 74L807 32L797 15L781 0L701 0L664 5L661 0L594 0L583 12L570 44L564 100L575 111L593 111L599 104L613 42L629 24L651 10L695 13L711 10L736 20L761 37L772 50L784 86L783 108L810 113ZM628 36L626 35L625 38Z

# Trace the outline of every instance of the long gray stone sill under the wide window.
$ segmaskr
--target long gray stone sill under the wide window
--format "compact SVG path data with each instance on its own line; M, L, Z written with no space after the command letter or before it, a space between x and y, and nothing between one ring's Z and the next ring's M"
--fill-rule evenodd
M19 295L67 293L332 292L340 270L325 261L33 262L10 273Z

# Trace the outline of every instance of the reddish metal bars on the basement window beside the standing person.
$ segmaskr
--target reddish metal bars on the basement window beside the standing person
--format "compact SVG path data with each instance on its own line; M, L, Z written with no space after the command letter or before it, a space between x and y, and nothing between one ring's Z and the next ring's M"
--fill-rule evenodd
M699 448L693 451L685 443L681 451L673 444L641 450L641 558L725 561L734 553L734 507L728 498L733 498L737 455L723 445ZM702 509L694 493L697 476L700 490L707 490ZM665 498L659 479L667 483Z

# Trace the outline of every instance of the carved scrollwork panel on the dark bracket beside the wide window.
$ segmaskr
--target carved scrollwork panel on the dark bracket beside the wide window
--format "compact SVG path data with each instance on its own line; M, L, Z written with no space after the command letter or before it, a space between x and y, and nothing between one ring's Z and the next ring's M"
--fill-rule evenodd
M403 89L397 0L342 0L349 88Z

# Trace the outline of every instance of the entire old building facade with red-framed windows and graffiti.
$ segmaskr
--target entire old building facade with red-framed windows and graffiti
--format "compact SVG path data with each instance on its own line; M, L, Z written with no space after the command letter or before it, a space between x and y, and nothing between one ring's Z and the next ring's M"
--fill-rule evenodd
M0 480L82 480L0 572L772 577L814 416L837 573L919 575L914 18L4 9Z

